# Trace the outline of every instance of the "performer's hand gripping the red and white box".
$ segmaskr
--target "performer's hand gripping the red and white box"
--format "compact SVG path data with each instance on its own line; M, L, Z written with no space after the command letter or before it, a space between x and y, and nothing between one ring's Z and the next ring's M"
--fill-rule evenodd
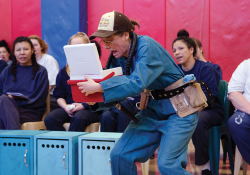
M85 93L85 96L88 96L89 94L94 94L95 92L103 92L101 84L96 83L89 77L84 76L84 78L87 81L77 83L77 86L79 86L79 89L82 90L82 93Z

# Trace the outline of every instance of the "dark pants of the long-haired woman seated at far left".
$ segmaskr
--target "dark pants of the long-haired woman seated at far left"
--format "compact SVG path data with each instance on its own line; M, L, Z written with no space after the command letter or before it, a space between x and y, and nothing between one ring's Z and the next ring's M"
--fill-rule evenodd
M18 107L16 102L6 95L0 96L0 111L0 129L21 129L25 122L41 120L41 116L34 109Z

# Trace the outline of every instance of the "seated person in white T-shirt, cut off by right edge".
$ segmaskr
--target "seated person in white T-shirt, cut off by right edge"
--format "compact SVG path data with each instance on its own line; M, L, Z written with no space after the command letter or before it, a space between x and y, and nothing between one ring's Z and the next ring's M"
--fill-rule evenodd
M229 118L230 134L243 159L250 164L250 59L244 60L228 83L228 98L237 109Z

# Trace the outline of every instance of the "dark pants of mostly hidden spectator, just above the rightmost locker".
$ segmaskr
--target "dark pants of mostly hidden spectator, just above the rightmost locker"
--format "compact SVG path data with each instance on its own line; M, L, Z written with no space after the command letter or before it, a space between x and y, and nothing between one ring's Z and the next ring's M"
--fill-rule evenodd
M136 115L140 110L135 107L131 102L124 100L121 104L126 107L128 111ZM106 109L102 115L100 115L101 132L124 132L131 119L126 116L117 108Z

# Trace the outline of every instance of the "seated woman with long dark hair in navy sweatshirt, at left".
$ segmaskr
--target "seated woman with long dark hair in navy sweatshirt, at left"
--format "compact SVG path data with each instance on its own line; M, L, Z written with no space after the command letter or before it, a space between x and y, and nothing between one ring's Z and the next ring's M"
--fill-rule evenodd
M13 50L13 63L0 75L0 129L21 129L25 122L40 121L46 110L48 75L37 64L30 39L18 37ZM8 95L10 92L28 99Z

